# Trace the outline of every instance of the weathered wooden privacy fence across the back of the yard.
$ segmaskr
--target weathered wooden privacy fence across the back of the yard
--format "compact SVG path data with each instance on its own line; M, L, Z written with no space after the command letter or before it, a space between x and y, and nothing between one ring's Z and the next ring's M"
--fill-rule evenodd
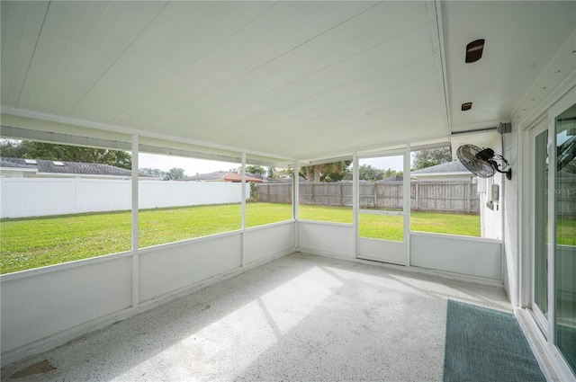
M290 203L292 184L257 185L256 200ZM352 206L352 182L300 183L300 204ZM401 209L402 182L361 182L361 209ZM477 184L471 181L410 182L411 209L424 211L480 212Z

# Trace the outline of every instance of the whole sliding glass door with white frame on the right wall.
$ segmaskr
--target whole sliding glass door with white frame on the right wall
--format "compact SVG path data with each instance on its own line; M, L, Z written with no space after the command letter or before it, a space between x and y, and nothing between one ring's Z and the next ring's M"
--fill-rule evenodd
M564 378L576 376L576 90L530 132L530 306ZM564 368L564 367L563 367ZM564 369L563 369L564 370ZM570 377L572 375L572 377Z

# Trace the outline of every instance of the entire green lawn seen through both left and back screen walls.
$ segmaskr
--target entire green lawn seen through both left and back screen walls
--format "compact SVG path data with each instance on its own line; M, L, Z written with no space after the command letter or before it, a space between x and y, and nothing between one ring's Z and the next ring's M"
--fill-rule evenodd
M240 204L148 209L139 212L139 247L214 235L240 229ZM300 218L352 223L352 209L300 206ZM292 206L247 203L247 227L288 220ZM576 221L564 231L571 237ZM414 231L480 236L478 215L413 212ZM571 226L571 227L568 227ZM401 218L361 215L360 235L395 240ZM79 214L0 220L2 273L70 262L130 250L130 212ZM396 236L395 236L396 235ZM574 244L574 243L572 243Z

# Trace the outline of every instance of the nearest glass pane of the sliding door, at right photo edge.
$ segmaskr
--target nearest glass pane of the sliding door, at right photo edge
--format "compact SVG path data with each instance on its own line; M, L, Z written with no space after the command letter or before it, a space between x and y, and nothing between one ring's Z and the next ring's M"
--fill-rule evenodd
M555 120L555 343L576 374L576 104Z

